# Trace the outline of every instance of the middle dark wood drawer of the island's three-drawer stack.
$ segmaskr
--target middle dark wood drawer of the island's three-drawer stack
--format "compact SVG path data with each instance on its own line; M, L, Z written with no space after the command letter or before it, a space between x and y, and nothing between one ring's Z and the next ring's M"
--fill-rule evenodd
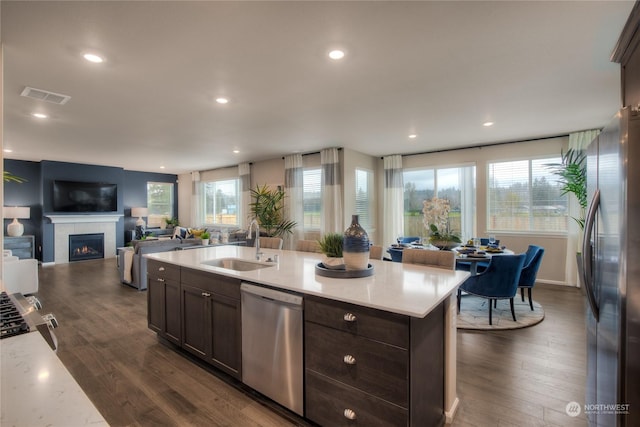
M305 344L307 369L408 406L407 350L311 322L305 324Z

